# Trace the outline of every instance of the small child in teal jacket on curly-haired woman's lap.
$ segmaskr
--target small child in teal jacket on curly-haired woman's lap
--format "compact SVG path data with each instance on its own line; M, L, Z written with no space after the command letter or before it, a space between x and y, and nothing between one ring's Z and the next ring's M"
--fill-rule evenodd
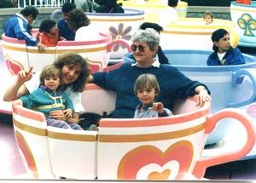
M40 75L39 88L31 94L15 100L14 104L20 104L37 112L43 112L48 126L82 130L79 124L67 123L49 115L52 110L63 110L67 118L73 116L73 103L67 94L60 89L60 82L61 70L53 65L45 66Z

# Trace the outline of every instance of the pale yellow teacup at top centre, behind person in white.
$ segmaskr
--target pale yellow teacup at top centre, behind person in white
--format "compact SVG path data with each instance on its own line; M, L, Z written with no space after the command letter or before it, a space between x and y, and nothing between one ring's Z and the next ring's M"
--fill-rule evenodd
M167 0L119 0L118 3L122 3L124 8L127 9L143 9L145 12L145 20L147 22L160 22L158 16L163 9L168 7ZM179 1L177 3L177 16L184 18L187 15L188 3Z

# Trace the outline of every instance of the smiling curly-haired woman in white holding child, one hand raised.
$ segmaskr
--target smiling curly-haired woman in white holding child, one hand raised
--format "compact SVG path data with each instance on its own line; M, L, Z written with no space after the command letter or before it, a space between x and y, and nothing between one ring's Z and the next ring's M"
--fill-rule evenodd
M66 117L62 110L49 112L49 116L67 123L79 123L79 112L84 112L81 103L81 92L84 91L85 83L90 75L90 68L86 60L75 53L60 54L53 65L61 69L61 90L65 91L70 100L73 101L73 117ZM20 71L15 83L9 86L3 95L4 101L12 101L38 89L40 84L40 73Z

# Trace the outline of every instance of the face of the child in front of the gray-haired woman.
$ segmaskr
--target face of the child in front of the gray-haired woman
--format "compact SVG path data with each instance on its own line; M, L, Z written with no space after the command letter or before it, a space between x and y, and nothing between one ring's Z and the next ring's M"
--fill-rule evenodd
M143 103L143 106L152 104L154 102L155 95L157 95L155 93L155 89L148 85L143 89L137 90L137 98Z

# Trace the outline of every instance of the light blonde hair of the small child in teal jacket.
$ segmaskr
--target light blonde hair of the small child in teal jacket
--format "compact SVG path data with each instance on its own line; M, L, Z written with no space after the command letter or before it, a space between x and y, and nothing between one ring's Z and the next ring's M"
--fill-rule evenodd
M59 76L61 81L61 69L54 65L45 66L40 74L40 85L44 85L44 79L46 77Z

